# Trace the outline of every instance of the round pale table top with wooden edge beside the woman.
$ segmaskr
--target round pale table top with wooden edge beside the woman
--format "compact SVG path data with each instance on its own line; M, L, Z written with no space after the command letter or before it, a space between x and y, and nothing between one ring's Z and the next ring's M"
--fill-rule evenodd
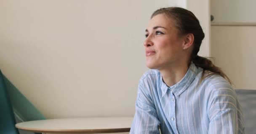
M129 132L133 117L67 118L26 121L16 128L39 133L118 133Z

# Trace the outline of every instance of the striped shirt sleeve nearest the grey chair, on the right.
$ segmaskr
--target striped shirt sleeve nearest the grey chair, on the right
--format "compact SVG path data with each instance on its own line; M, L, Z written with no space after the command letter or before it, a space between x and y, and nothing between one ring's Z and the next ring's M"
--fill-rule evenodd
M231 86L215 86L208 101L208 134L243 134L237 112L237 98Z

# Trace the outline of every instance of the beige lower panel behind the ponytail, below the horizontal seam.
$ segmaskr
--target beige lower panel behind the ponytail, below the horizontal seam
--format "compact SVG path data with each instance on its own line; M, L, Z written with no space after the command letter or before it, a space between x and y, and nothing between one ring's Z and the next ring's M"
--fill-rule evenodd
M212 26L211 53L235 89L256 89L256 26Z

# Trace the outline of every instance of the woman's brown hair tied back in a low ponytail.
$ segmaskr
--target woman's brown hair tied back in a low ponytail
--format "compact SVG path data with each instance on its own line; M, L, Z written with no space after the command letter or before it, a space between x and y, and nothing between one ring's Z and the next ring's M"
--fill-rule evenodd
M194 35L194 47L188 64L190 65L191 62L193 62L195 66L203 68L201 81L205 77L217 74L228 80L230 84L232 83L227 75L225 75L219 67L216 67L210 59L197 55L205 34L203 33L203 29L200 26L198 19L191 11L179 7L160 8L152 14L151 18L158 14L165 14L172 18L174 20L174 25L181 35L187 33L192 33ZM205 70L208 70L208 74L206 76L204 76Z

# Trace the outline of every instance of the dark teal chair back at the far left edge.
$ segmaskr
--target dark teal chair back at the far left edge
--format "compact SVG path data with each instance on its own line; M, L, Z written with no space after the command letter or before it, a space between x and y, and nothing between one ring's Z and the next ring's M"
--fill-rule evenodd
M0 134L19 134L15 124L13 109L0 70Z

